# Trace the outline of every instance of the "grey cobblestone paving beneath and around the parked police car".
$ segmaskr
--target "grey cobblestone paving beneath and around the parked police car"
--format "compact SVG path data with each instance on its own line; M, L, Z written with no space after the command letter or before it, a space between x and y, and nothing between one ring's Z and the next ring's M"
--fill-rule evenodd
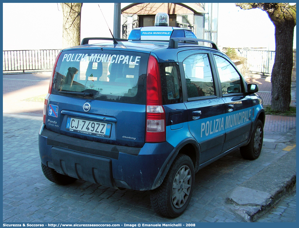
M42 118L3 117L3 221L5 222L241 222L226 204L228 193L288 151L263 148L254 161L239 150L200 170L187 210L178 218L157 215L148 191L116 190L76 181L59 186L42 174L38 131Z

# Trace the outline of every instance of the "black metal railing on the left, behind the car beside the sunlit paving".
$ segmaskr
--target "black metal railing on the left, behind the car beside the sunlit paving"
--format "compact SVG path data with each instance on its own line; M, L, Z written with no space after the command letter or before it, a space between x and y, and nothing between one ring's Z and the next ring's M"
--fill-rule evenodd
M61 49L3 51L3 71L51 70Z

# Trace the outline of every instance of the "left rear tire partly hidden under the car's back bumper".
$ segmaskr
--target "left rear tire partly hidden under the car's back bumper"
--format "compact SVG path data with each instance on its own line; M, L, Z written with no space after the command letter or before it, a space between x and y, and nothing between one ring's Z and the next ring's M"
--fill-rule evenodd
M49 181L52 181L59 185L71 184L77 180L76 178L60 174L56 172L54 169L45 166L44 164L42 164L42 172Z

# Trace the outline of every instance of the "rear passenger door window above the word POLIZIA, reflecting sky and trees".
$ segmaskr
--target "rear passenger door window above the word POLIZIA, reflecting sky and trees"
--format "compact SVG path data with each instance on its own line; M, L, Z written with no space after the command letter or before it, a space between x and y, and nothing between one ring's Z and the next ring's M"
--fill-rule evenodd
M188 98L216 95L208 54L196 54L183 61Z

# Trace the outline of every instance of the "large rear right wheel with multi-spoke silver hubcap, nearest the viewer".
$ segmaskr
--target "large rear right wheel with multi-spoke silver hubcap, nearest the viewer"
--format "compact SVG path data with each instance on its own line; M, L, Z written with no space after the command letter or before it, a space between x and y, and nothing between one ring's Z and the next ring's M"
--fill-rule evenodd
M190 202L194 180L193 162L189 156L179 154L173 161L162 184L151 191L152 208L165 217L178 217Z

